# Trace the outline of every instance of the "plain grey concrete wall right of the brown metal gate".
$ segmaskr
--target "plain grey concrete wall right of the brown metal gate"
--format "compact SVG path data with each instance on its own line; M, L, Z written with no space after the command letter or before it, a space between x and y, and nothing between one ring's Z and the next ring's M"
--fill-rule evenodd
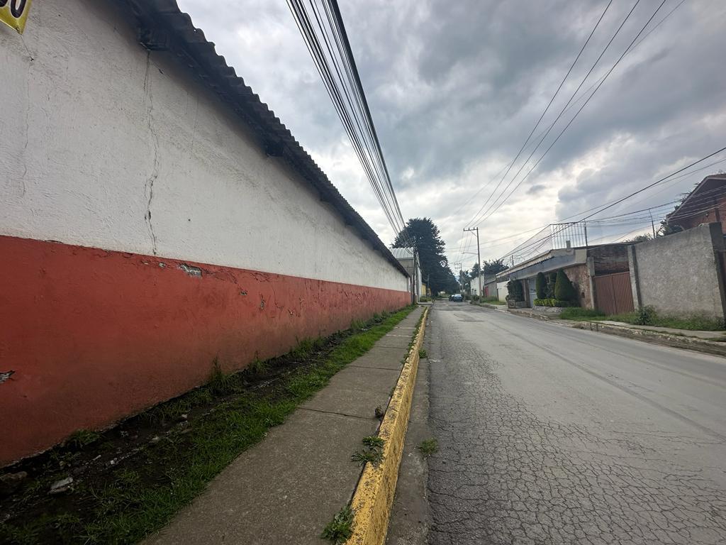
M721 224L710 223L628 248L633 302L673 315L724 318Z

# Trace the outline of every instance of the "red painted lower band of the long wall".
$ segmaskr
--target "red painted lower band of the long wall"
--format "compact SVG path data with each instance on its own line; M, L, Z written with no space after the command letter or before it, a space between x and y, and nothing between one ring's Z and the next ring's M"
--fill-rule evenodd
M409 303L393 291L1 237L0 467Z

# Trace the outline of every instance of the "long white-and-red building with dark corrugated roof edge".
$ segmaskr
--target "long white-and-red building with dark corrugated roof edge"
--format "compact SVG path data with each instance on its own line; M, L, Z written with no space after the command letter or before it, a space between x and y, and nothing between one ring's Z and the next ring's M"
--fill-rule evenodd
M0 56L0 465L409 304L176 1L36 2Z

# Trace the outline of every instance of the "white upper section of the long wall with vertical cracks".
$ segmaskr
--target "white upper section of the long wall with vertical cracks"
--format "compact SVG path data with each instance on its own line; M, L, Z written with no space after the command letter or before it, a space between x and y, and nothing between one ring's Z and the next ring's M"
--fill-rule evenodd
M110 2L36 1L23 39L0 28L0 113L0 235L407 288Z

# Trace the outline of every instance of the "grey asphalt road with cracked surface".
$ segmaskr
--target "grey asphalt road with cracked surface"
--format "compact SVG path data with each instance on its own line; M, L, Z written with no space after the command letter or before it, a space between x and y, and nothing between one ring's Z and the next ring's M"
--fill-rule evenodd
M726 359L437 302L431 545L726 544Z

